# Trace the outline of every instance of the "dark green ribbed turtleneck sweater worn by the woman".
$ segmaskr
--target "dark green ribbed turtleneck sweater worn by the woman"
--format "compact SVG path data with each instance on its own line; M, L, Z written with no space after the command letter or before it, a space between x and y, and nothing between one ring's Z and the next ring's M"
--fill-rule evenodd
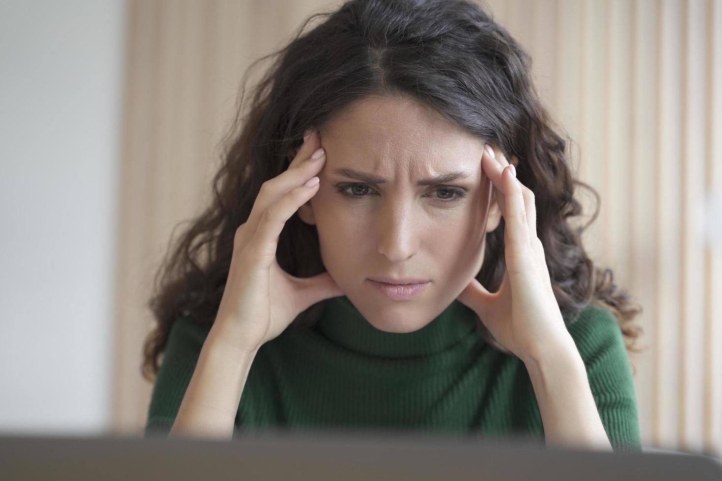
M258 349L234 433L396 428L544 441L526 366L484 342L477 315L460 301L407 333L377 330L347 296L323 304L317 325L287 329ZM590 305L567 330L614 451L640 451L637 397L614 314ZM171 327L146 436L170 431L208 332L189 317Z

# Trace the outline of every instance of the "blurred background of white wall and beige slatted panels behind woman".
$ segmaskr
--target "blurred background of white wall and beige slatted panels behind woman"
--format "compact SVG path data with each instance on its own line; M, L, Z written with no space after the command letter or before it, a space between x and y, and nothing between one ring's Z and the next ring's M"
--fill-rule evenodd
M601 195L589 252L643 305L643 444L720 456L722 0L482 3ZM0 433L142 433L152 276L243 74L339 5L0 0Z

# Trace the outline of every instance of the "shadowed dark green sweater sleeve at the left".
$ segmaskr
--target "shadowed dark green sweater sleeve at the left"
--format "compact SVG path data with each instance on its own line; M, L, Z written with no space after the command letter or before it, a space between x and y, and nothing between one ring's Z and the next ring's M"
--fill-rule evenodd
M151 395L144 437L168 436L201 355L209 327L179 317L173 322Z

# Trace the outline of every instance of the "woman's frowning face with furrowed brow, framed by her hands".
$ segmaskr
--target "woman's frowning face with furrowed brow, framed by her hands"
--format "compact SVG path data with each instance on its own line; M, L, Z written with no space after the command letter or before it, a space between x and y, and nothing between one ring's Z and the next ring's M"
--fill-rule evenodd
M367 97L321 131L321 146L321 187L299 216L318 229L323 265L377 329L421 329L479 273L485 234L499 224L482 172L484 142L413 100ZM465 177L419 185L449 172ZM394 300L375 277L430 283Z

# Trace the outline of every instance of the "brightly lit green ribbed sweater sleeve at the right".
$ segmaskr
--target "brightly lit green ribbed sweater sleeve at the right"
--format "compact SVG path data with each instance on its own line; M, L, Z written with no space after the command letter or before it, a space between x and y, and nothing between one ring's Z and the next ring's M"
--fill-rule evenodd
M568 326L614 451L642 451L637 394L622 330L609 309L583 309Z

